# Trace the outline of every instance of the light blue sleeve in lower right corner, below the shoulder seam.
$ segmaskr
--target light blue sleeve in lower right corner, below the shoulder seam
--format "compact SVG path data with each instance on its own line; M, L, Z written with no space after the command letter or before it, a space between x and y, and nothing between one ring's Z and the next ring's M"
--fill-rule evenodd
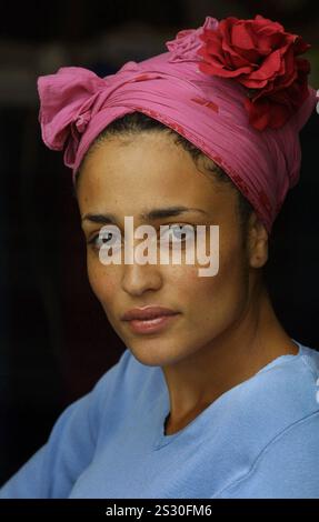
M319 411L289 425L228 484L223 499L319 499Z

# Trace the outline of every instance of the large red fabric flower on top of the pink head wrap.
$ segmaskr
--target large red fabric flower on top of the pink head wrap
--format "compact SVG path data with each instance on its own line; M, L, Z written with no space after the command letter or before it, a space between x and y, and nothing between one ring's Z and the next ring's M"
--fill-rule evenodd
M245 108L256 129L279 129L309 96L310 63L296 57L311 46L280 23L260 14L253 20L229 17L199 38L205 42L197 51L199 69L248 89Z

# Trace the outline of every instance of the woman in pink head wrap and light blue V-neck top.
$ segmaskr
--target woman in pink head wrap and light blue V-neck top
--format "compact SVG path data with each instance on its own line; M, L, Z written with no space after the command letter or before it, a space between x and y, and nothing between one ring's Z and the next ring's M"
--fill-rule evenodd
M316 106L308 47L260 16L207 17L106 79L39 79L42 138L64 149L90 284L127 349L0 496L319 498L319 355L262 275ZM108 263L106 245L138 247L127 218L181 262ZM210 277L187 262L200 237Z

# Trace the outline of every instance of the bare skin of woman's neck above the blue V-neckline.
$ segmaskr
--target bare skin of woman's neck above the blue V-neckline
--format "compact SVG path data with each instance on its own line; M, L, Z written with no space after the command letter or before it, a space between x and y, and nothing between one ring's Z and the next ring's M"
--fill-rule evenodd
M195 353L180 372L165 369L169 388L170 413L165 434L170 435L195 420L222 393L253 377L280 355L298 353L298 345L283 330L262 287L238 331L229 340L220 338L207 350ZM251 328L251 323L255 323ZM188 369L189 374L187 374ZM187 385L186 382L188 383Z

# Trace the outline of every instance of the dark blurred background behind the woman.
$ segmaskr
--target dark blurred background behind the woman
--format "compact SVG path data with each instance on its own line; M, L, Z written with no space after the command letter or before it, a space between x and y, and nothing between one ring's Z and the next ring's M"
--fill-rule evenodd
M0 483L42 445L59 413L124 350L90 290L71 171L41 141L36 81L62 66L100 76L165 52L206 16L260 13L312 44L319 88L319 2L64 0L2 2L0 17ZM319 349L319 116L301 133L303 163L275 224L267 280L296 340ZM316 148L317 144L317 148Z

